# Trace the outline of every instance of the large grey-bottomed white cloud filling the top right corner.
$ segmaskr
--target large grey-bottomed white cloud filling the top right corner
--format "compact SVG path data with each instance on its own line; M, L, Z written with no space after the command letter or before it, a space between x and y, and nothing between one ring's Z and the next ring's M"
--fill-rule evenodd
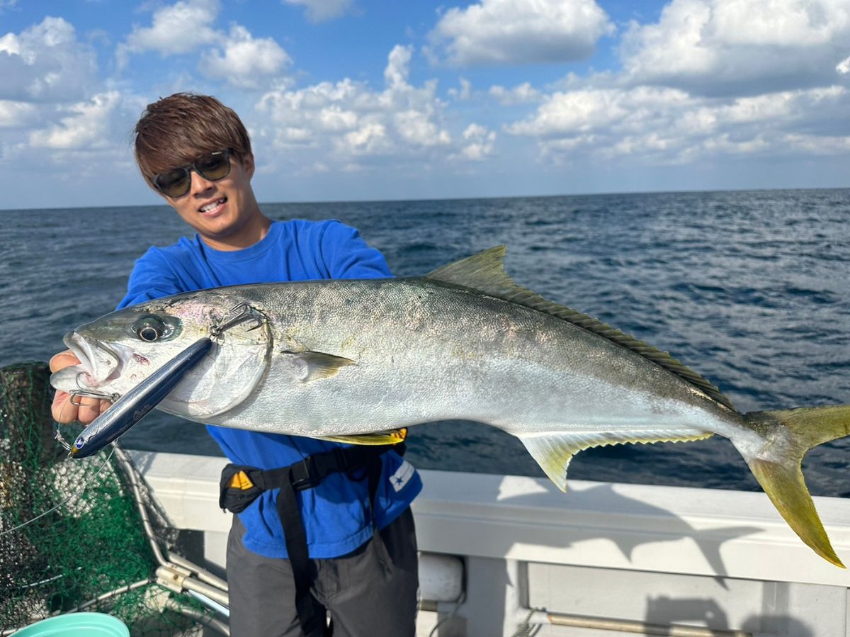
M761 94L836 80L847 0L672 0L621 43L626 79L694 94Z

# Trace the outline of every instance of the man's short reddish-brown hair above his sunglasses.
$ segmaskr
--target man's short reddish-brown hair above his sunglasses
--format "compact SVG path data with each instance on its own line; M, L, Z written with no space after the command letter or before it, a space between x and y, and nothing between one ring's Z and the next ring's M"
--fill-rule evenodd
M236 113L211 95L175 93L147 105L133 129L136 163L150 184L156 173L231 149L241 161L251 139Z

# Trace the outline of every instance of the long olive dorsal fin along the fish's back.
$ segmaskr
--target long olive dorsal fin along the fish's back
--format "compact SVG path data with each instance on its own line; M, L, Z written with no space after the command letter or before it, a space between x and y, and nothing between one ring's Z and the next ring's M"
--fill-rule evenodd
M433 272L426 275L426 278L456 286L468 287L489 294L497 299L504 299L511 303L524 305L532 310L557 316L559 319L586 329L588 332L594 333L597 336L607 338L609 341L625 347L626 350L632 350L642 355L643 358L654 362L659 367L664 367L679 378L683 378L683 380L694 385L698 390L721 405L729 409L734 409L732 401L723 395L710 381L702 378L700 374L689 369L689 367L677 361L667 352L656 350L652 345L622 333L620 330L610 327L592 316L571 310L565 305L547 301L540 294L517 285L510 276L507 276L507 272L505 272L504 259L506 251L507 247L505 246L490 247L490 249L473 254L473 256L467 257L467 259L461 259L455 263L450 263L437 270L433 270Z

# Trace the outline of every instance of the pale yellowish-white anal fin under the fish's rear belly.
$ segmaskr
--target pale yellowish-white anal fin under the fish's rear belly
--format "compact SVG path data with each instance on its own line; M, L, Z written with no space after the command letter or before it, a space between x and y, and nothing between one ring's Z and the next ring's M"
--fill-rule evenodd
M543 434L518 435L531 457L537 461L543 473L561 491L567 490L567 468L573 456L592 446L649 444L653 442L690 442L710 437L710 431L683 434L671 431L669 434L659 431L646 432L548 432Z

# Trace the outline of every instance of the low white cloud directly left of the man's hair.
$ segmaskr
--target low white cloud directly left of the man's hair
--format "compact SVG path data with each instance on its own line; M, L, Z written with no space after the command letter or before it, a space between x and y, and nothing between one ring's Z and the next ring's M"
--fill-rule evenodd
M114 144L110 122L121 100L117 91L95 95L92 100L71 105L58 124L33 131L30 145L54 150L105 148Z

